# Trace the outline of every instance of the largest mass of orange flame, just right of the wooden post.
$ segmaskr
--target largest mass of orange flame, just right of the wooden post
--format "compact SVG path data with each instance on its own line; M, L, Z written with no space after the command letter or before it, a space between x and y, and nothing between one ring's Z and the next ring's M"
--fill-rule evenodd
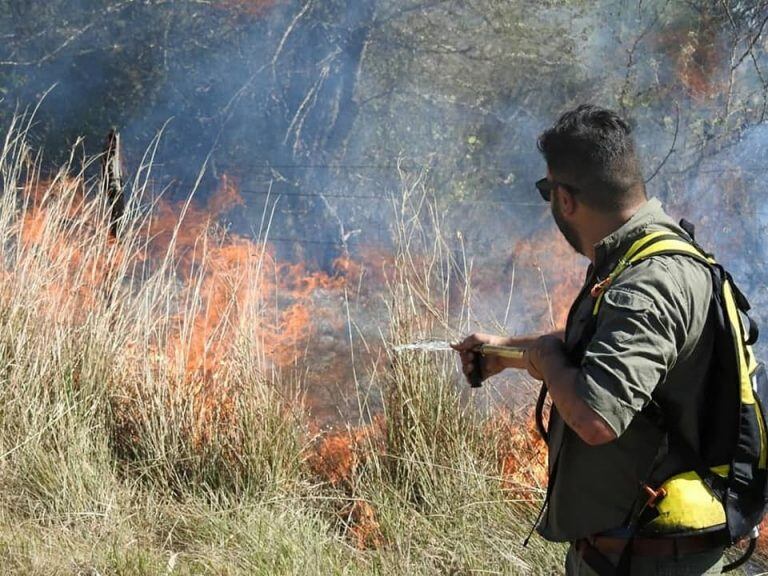
M318 291L337 291L342 274L309 272L301 264L279 262L264 243L239 235L223 236L214 222L244 202L231 178L222 178L205 206L161 203L149 225L153 253L171 244L179 255L183 297L198 305L192 318L182 310L167 354L183 359L188 380L215 379L225 367L237 337L245 330L274 366L298 360L312 337ZM177 223L181 221L181 226ZM238 318L254 324L242 326Z

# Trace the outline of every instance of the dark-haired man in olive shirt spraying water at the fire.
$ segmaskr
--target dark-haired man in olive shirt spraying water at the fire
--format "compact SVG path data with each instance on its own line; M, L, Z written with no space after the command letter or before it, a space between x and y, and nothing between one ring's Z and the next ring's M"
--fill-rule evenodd
M538 147L547 176L537 188L563 236L591 262L584 286L564 333L473 334L456 346L463 370L469 375L481 362L472 352L480 344L517 346L526 350L522 360L483 358L483 378L517 368L546 385L553 403L550 486L538 531L571 543L567 574L609 574L619 564L633 575L719 574L723 545L707 530L678 529L672 537L664 528L629 528L638 502L654 504L643 496L651 472L669 478L690 470L684 455L665 445L663 422L650 405L676 414L682 436L700 448L714 338L709 272L682 255L651 257L607 289L606 277L636 240L686 232L648 200L631 128L615 112L579 106L545 131Z

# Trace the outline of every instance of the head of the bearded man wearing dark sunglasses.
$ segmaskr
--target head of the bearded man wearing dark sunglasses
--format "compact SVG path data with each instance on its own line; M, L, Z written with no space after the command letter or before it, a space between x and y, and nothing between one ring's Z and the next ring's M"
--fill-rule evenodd
M547 182L538 187L549 192L558 227L581 253L585 227L615 222L647 199L631 133L615 112L581 105L539 137Z

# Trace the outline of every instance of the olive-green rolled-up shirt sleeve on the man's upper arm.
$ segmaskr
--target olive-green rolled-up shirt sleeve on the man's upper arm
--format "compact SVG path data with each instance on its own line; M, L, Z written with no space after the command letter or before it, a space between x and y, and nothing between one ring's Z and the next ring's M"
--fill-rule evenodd
M708 302L701 302L701 294L708 273L680 260L644 260L603 296L577 392L617 436L648 404L705 322Z

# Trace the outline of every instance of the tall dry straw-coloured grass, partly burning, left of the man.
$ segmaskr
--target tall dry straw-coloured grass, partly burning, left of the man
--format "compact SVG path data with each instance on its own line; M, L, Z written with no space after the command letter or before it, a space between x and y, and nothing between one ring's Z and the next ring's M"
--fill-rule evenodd
M191 225L192 203L158 224L151 150L111 238L97 159L45 176L29 127L0 152L3 573L557 570L557 547L520 548L541 487L504 464L536 447L473 409L455 359L385 352L370 426L311 432L265 244ZM469 318L423 176L396 198L384 350Z

